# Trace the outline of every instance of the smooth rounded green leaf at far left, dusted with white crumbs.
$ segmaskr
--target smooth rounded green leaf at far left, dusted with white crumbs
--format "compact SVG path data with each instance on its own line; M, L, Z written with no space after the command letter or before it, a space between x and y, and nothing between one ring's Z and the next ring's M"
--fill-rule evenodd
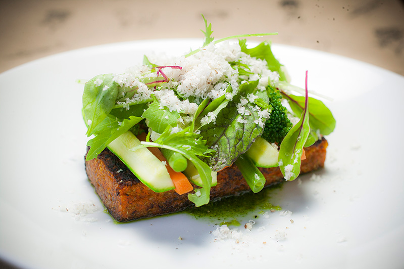
M83 113L88 126L87 136L91 136L95 127L111 112L118 94L118 83L113 74L98 75L84 85Z

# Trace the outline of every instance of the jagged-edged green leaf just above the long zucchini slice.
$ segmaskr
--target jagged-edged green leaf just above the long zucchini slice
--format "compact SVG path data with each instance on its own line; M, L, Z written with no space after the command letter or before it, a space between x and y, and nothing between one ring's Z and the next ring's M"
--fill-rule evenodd
M119 122L110 117L105 118L94 130L97 136L87 142L87 146L90 146L90 149L87 153L86 160L96 158L112 141L142 119L141 117L129 116L129 119L124 119L122 122Z

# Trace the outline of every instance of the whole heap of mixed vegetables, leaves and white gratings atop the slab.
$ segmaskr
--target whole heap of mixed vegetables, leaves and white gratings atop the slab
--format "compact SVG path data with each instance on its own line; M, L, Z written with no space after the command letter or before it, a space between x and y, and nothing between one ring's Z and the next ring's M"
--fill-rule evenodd
M335 127L330 110L308 96L307 73L305 89L291 85L269 42L249 48L242 39L275 33L215 41L204 21L201 48L144 56L126 73L88 80L83 93L86 160L108 147L147 187L188 193L196 206L209 202L216 173L233 163L254 192L265 184L257 167L279 166L294 180L304 148Z

